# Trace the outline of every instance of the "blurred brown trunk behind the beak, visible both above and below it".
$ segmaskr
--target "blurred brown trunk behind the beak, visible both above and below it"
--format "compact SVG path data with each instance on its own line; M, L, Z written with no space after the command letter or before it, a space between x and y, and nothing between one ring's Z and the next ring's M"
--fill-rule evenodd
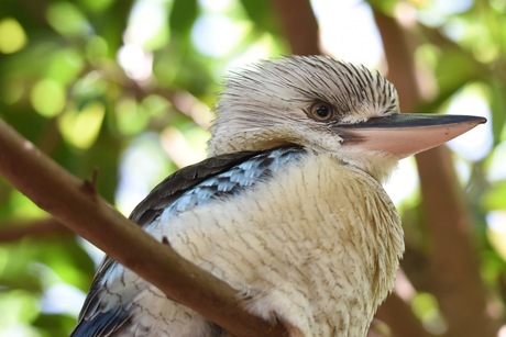
M407 32L395 19L375 12L388 77L398 89L404 110L421 101ZM411 36L413 38L413 36ZM472 244L469 214L446 147L416 156L424 200L425 226L430 239L431 289L448 323L448 336L493 336L486 315L486 295Z

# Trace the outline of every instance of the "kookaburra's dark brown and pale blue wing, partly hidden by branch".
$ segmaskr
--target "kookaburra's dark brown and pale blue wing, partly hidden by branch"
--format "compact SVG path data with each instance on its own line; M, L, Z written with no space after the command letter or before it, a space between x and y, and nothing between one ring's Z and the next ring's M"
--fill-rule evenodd
M178 212L206 204L212 199L235 194L277 169L302 151L299 147L268 151L241 151L212 157L185 167L163 180L133 210L130 218L148 232L164 212ZM114 292L108 282L118 262L106 257L98 269L72 336L109 336L131 318L132 302L139 292L138 280L123 280L122 291Z

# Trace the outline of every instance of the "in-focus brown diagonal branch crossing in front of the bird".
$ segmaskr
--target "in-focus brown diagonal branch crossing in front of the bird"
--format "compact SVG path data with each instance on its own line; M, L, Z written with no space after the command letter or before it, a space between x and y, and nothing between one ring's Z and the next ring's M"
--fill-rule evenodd
M41 209L173 299L235 336L283 336L244 311L237 291L182 258L0 120L0 175ZM132 249L135 247L135 249ZM172 278L166 276L170 274Z

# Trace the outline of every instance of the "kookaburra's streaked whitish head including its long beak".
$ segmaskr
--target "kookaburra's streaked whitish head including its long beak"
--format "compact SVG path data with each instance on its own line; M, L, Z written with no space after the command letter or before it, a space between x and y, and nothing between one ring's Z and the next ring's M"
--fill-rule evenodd
M399 113L378 72L324 56L265 60L233 74L216 105L210 155L297 144L329 151L378 180L404 157L485 119Z

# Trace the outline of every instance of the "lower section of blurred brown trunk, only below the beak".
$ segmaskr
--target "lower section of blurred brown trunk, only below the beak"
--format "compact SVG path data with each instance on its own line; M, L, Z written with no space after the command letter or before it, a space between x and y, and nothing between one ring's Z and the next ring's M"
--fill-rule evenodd
M438 147L417 156L425 225L431 236L432 289L448 321L448 336L495 336L486 312L472 223L465 212L450 151Z

